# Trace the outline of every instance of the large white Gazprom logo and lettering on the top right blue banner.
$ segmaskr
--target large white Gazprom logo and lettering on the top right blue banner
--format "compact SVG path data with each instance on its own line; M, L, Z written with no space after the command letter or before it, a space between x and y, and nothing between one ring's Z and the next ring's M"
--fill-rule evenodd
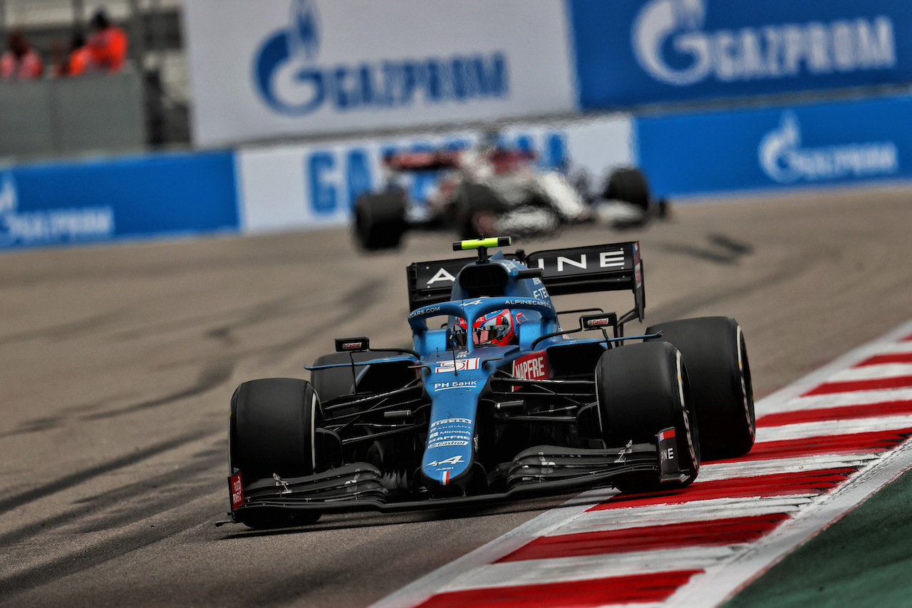
M654 79L679 87L710 76L733 82L896 65L893 21L888 16L847 16L831 23L731 24L707 32L706 14L707 0L648 2L631 30L639 65Z

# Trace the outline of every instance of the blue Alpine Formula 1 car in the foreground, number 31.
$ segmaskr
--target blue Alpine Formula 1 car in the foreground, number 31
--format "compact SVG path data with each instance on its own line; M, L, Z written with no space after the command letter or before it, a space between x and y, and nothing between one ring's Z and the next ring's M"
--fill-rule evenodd
M231 402L232 520L451 508L589 487L683 487L700 455L753 445L751 371L727 317L643 320L639 244L407 268L412 348L342 338L311 380L241 384ZM558 311L553 296L629 289L634 308ZM574 327L560 320L573 316Z

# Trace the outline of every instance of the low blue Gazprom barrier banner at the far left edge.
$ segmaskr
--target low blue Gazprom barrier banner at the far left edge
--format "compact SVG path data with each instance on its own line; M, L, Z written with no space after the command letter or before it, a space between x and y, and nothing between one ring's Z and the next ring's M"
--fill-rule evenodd
M237 230L233 152L0 168L0 248Z

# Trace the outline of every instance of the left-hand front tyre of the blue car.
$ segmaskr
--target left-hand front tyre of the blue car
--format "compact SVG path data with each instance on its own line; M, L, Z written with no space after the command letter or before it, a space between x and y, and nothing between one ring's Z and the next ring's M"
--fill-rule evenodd
M230 470L244 484L256 479L303 477L316 466L315 428L320 402L313 386L295 378L253 380L237 387L228 427ZM235 517L251 528L313 523L318 513L250 508Z

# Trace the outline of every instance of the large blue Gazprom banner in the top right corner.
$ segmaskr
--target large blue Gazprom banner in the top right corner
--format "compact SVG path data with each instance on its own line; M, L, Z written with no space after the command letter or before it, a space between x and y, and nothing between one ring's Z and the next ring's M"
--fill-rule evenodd
M568 0L580 106L912 81L907 0Z

